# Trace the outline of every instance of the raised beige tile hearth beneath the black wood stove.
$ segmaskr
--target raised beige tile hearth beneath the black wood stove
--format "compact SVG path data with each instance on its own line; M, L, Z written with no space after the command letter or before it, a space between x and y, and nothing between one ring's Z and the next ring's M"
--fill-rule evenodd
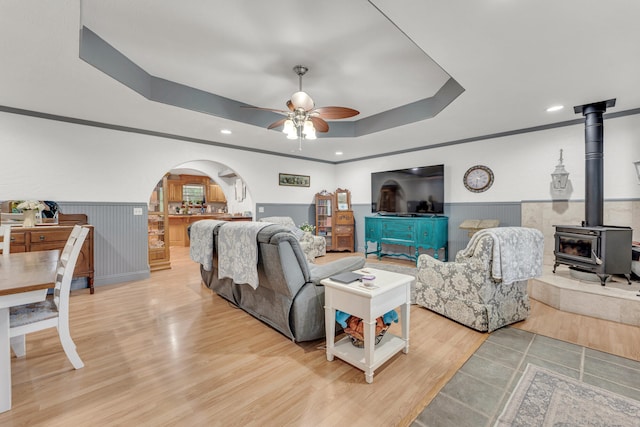
M545 265L543 274L529 281L529 296L555 309L598 319L640 326L640 283L627 284L623 276L613 276L605 286L578 280L569 268Z

